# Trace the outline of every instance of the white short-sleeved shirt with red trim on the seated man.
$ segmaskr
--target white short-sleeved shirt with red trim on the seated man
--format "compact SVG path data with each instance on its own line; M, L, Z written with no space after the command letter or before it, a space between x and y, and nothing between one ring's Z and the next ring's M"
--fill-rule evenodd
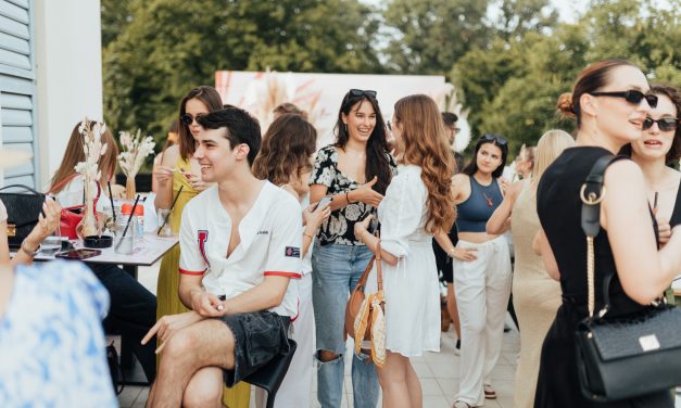
M179 272L203 276L206 292L232 298L266 276L301 277L301 207L291 194L265 181L239 224L241 242L227 257L231 219L217 186L193 197L182 211ZM289 282L281 305L269 309L298 315L298 283Z

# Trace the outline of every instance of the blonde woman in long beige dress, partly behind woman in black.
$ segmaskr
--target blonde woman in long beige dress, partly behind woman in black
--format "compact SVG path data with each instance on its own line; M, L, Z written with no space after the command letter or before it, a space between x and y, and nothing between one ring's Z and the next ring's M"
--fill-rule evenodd
M575 139L567 132L548 130L539 139L537 148L525 148L525 152L534 150L530 173L510 186L502 205L487 222L488 233L500 234L508 229L513 232L513 304L521 329L514 393L516 408L534 405L542 343L560 305L560 285L548 277L541 256L532 251L539 230L537 186L548 165L573 145Z

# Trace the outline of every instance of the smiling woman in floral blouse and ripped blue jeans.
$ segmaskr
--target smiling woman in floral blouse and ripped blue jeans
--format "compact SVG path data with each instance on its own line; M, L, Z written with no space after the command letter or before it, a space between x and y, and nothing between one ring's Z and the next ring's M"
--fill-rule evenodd
M332 197L331 215L321 225L312 254L317 398L323 408L341 404L345 304L373 256L355 238L353 228L376 212L396 173L376 91L351 89L343 97L336 136L336 143L317 152L310 177L311 202ZM362 359L353 356L353 400L357 408L374 408L378 401L378 378L367 358L366 354Z

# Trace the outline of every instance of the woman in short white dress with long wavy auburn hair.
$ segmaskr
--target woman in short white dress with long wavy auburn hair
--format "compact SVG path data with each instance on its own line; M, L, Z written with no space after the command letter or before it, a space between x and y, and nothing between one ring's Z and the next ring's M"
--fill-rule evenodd
M411 357L440 350L440 295L433 234L454 222L451 178L454 157L432 99L417 94L395 103L391 126L403 152L378 207L386 296L386 364L377 368L383 407L423 406ZM367 231L370 217L355 224L355 237L376 253L379 239ZM376 270L367 292L376 291Z

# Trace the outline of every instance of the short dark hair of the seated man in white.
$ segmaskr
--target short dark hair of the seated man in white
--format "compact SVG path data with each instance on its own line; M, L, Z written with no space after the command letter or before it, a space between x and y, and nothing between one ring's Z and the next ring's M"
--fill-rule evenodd
M199 116L197 122L205 129L225 128L225 138L231 143L231 149L237 144L248 144L249 166L253 165L260 150L261 132L257 119L250 113L239 107L227 107Z

